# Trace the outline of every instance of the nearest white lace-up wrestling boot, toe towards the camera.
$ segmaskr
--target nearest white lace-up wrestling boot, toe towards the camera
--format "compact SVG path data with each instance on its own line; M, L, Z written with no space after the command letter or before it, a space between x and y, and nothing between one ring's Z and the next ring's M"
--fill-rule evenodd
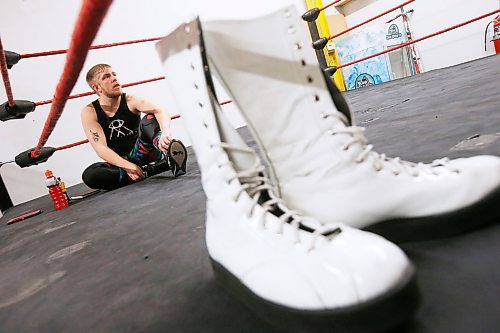
M216 277L287 331L380 331L409 318L418 292L397 246L299 217L274 196L257 154L215 99L199 21L181 25L157 49L201 170ZM178 97L186 92L190 98Z

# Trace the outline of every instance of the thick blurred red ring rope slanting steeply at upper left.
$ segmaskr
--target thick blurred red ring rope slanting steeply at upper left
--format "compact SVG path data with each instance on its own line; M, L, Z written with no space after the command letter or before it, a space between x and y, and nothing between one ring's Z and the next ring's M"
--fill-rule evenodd
M84 0L73 30L63 74L57 84L52 107L43 127L42 135L31 153L32 157L39 154L40 149L47 142L57 121L61 117L66 100L71 89L75 86L78 75L87 58L88 48L94 40L111 3L112 0Z

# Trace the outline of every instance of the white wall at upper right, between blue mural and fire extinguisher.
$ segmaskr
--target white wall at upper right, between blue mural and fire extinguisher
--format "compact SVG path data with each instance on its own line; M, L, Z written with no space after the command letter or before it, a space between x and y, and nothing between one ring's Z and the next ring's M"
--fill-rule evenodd
M353 2L356 1L360 0L353 0ZM347 25L351 27L403 2L405 1L368 1L363 9L347 15ZM415 9L410 19L410 25L413 37L417 39L496 10L499 6L499 0L476 0L473 2L470 0L416 0L405 6L405 9ZM331 11L334 12L334 9ZM398 13L399 11L395 11L393 14L387 14L369 24L386 22ZM494 17L490 16L417 43L416 48L420 54L424 71L453 66L494 54L492 43L489 43L487 51L484 51L484 30Z

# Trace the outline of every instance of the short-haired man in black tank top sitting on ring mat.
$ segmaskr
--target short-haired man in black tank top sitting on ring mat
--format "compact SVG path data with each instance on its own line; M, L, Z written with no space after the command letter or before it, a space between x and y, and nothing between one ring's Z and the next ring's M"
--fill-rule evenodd
M174 177L186 173L186 147L172 139L164 111L122 92L109 65L92 67L87 83L99 98L83 109L82 125L92 148L106 161L85 169L87 186L112 190L168 169Z

